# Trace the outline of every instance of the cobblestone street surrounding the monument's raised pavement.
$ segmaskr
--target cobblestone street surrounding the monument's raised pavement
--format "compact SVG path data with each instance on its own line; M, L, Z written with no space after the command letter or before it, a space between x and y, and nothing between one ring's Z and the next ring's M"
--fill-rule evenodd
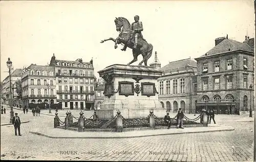
M90 116L91 112L88 112ZM143 161L252 161L253 122L235 122L245 116L216 116L216 122L234 131L175 134L134 139L51 139L29 133L53 127L53 116L19 113L23 136L12 125L1 126L1 159L143 160ZM9 116L9 109L7 114ZM1 122L2 122L1 115ZM6 117L9 118L9 117ZM159 130L161 131L161 130ZM172 129L170 129L172 131ZM104 132L102 132L104 133ZM234 148L234 149L232 149ZM236 150L235 152L233 150Z

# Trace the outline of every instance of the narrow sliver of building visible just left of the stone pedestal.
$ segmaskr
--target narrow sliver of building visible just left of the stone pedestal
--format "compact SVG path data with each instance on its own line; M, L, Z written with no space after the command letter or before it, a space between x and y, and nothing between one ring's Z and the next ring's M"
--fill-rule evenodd
M94 105L95 105L95 110L99 110L100 109L100 105L104 101L104 94L103 94L104 88L105 88L105 81L104 81L104 79L103 78L98 78L97 82L95 84L95 87L94 87L94 96L95 96Z

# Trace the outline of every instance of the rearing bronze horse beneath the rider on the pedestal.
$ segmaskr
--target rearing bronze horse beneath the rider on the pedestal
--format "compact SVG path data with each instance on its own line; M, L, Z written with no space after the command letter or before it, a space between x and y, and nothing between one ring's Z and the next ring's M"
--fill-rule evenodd
M100 43L103 43L108 40L112 40L115 42L115 49L117 48L117 44L120 44L120 43L123 43L127 47L133 49L134 42L132 38L134 33L131 30L132 26L130 22L124 17L118 17L115 19L115 24L116 24L116 30L120 32L117 39L114 39L114 38L104 39L100 41ZM133 60L127 65L130 65L136 62L138 60L137 59L138 56L141 54L143 57L143 60L139 63L139 65L141 65L144 62L145 66L147 66L147 60L152 56L153 45L150 43L147 43L142 38L139 38L139 41L141 45L140 46L138 45L136 49L133 49Z

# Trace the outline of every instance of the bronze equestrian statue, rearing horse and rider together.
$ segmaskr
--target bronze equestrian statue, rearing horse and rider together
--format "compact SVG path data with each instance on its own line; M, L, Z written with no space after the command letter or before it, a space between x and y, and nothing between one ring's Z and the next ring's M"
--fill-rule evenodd
M139 65L144 62L145 66L147 66L147 60L152 55L153 45L147 43L142 37L141 31L143 31L143 26L142 22L139 21L139 16L134 16L134 20L135 22L133 22L131 25L130 22L124 17L116 18L115 24L116 30L120 32L119 36L116 39L104 39L100 41L100 43L112 40L115 42L115 49L117 48L117 44L123 43L124 46L121 50L125 51L127 47L133 49L133 60L127 65L136 62L138 60L138 56L141 54L143 60L139 63Z

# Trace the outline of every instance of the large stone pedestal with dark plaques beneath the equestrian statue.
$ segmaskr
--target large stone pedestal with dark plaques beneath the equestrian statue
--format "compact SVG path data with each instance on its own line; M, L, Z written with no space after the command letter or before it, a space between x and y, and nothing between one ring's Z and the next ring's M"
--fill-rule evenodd
M118 110L130 119L147 117L151 110L157 117L165 115L158 100L160 69L115 64L98 73L106 81L104 101L97 112L99 119L112 119Z

